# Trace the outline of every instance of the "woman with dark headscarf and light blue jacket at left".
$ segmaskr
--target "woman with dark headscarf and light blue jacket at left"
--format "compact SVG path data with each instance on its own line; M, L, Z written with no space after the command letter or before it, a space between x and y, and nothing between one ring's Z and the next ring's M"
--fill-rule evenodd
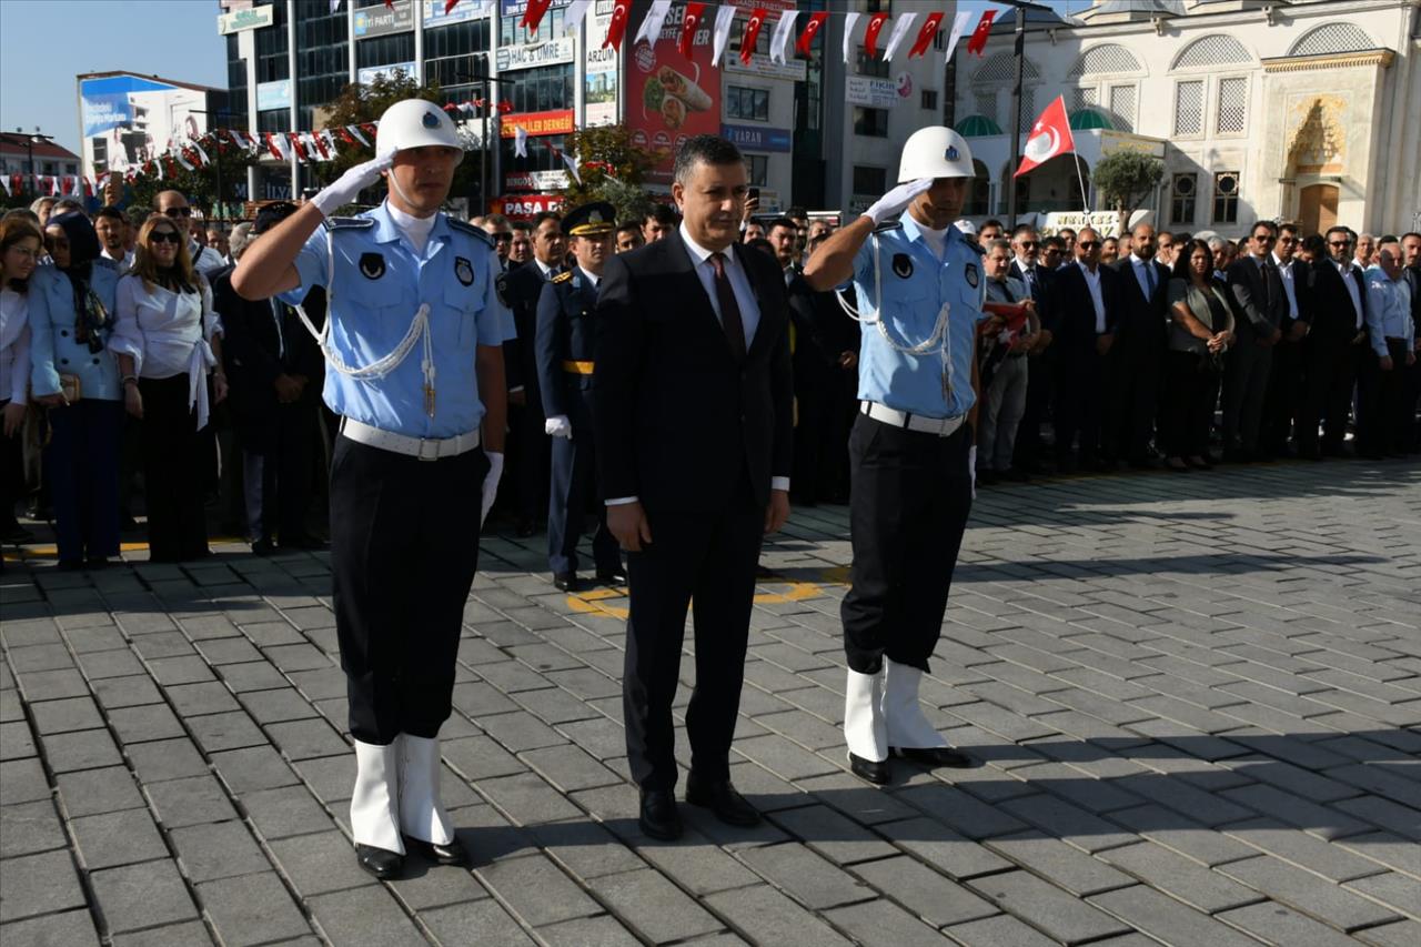
M82 213L50 218L44 243L54 266L30 282L30 388L50 408L44 468L60 567L99 567L118 555L124 402L108 351L118 276L98 259L98 235Z

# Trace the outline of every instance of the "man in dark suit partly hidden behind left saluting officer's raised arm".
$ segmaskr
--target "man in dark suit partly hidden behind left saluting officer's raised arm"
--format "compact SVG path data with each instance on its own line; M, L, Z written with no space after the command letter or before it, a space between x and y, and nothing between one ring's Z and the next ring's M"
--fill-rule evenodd
M294 203L257 212L253 240L296 213ZM249 243L250 246L250 243ZM244 249L243 249L244 252ZM247 300L232 289L232 270L213 283L222 313L223 360L232 378L232 418L242 441L252 552L321 546L306 530L311 505L317 411L325 364L296 310L280 299ZM324 319L324 293L320 313Z

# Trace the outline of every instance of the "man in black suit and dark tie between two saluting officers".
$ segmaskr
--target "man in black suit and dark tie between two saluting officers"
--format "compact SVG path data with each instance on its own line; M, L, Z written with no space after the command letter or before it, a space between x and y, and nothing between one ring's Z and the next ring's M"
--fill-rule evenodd
M759 822L730 785L729 754L760 543L789 518L794 424L784 276L737 242L740 151L696 135L674 173L681 228L607 262L594 375L607 525L630 553L627 756L641 829L657 839L682 832L671 704L692 596L686 801Z

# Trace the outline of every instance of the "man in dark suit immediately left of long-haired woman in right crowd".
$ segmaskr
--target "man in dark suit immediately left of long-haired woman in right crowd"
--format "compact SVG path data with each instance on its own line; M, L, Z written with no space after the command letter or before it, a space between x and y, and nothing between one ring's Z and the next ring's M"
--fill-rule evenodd
M1154 465L1150 437L1160 401L1165 327L1169 320L1165 300L1169 270L1154 259L1152 226L1135 226L1131 237L1130 255L1115 263L1121 304L1115 320L1115 341L1106 360L1108 381L1104 448L1108 461L1128 461L1131 466L1150 468Z

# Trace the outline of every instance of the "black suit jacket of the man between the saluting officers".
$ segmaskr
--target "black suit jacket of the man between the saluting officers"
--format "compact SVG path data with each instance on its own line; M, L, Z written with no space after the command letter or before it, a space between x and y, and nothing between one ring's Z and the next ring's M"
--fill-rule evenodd
M718 513L745 471L769 503L794 429L789 300L779 264L735 245L760 309L732 353L679 232L611 257L597 300L597 466L604 498L648 513Z

